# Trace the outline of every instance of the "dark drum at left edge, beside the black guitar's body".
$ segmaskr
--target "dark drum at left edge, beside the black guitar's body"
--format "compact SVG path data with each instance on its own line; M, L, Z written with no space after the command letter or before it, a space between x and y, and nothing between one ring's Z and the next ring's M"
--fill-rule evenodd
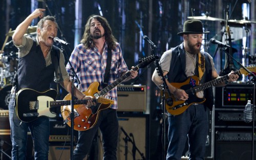
M8 109L11 98L11 89L11 84L0 89L0 109Z

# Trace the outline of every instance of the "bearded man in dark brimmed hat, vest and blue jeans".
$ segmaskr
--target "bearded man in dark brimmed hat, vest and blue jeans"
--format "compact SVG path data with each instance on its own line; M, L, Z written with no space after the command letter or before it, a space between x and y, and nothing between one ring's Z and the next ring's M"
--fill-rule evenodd
M181 87L173 86L174 82L182 84L189 77L195 75L198 77L199 84L219 78L212 57L208 53L201 51L203 34L205 33L209 32L203 31L200 20L190 19L185 21L183 32L178 33L183 37L183 43L164 52L160 59L163 75L167 77L168 89L177 101L186 102L189 99L189 95ZM236 81L238 77L231 71L229 79L218 86ZM155 70L152 80L157 86L162 84L157 70ZM194 79L190 78L189 85L194 85L194 83ZM214 99L212 88L205 89L197 93L196 96L205 98L206 101L198 104L193 103L182 113L171 114L170 111L168 113L169 144L166 155L167 160L181 159L187 138L189 159L204 159L208 132L206 107L212 109Z

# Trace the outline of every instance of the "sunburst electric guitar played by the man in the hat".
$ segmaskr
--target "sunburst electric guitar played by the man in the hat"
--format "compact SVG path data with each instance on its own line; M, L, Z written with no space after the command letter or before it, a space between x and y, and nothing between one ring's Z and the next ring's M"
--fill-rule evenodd
M256 72L255 66L246 67L251 72ZM239 71L234 72L236 75L244 74L245 76L248 75L248 72L245 71L243 68L240 68ZM186 101L177 100L174 95L169 95L168 92L165 92L165 108L171 115L180 115L183 113L190 105L192 104L200 104L203 103L206 99L199 98L197 94L202 92L204 89L207 89L212 86L216 86L221 82L228 80L228 75L222 76L218 79L206 82L204 84L199 85L199 78L197 76L189 77L183 83L170 83L176 88L180 88L185 90L188 94L188 99ZM161 92L163 95L163 92Z

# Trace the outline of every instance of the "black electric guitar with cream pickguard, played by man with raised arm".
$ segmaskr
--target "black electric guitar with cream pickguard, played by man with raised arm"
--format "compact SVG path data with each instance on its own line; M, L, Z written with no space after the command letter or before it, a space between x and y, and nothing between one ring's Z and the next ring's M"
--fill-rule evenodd
M55 89L49 89L45 92L37 92L34 89L23 88L17 93L16 98L16 115L20 121L32 122L39 117L55 118L56 113L53 108L63 105L70 105L71 101L55 101L57 97L57 91ZM88 100L74 100L74 104L87 104ZM103 97L99 97L95 100L97 103L114 103L113 100L109 100Z

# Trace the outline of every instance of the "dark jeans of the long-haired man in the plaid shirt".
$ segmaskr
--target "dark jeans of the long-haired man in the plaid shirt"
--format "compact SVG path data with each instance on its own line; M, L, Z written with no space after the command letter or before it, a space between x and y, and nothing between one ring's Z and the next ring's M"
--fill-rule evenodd
M79 131L78 142L74 150L74 159L83 159L89 152L94 135L100 128L103 141L103 159L116 160L118 141L118 119L116 109L101 110L98 115L97 124L86 131Z

